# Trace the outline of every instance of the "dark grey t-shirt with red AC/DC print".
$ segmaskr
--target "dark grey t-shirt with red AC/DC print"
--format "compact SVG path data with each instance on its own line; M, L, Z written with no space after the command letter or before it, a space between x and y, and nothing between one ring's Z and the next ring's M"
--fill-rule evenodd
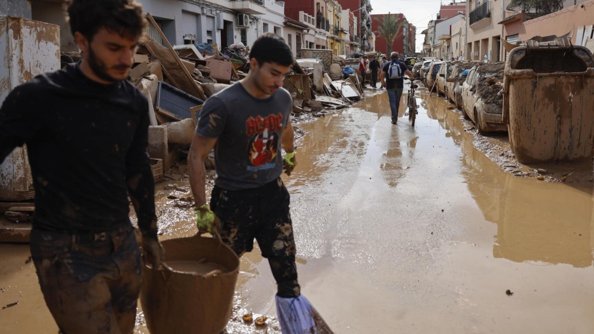
M196 133L217 138L214 160L218 187L251 189L280 177L281 139L292 108L286 89L277 89L267 99L257 99L240 82L206 100Z

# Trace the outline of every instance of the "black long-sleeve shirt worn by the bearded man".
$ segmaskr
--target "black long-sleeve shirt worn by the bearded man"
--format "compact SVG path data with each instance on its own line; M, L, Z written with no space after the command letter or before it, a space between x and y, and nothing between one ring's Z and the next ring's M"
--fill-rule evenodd
M129 194L139 227L156 235L148 103L128 81L90 80L80 63L8 95L0 108L0 163L27 144L34 228L108 231L129 223Z

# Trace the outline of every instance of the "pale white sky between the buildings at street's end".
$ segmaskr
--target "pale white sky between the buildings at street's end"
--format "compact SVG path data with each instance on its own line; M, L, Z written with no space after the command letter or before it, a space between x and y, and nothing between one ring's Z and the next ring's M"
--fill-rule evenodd
M450 4L450 0L371 0L371 14L405 14L406 20L416 27L416 52L423 48L425 30L430 20L434 20L440 11L441 2ZM456 1L460 2L460 1Z

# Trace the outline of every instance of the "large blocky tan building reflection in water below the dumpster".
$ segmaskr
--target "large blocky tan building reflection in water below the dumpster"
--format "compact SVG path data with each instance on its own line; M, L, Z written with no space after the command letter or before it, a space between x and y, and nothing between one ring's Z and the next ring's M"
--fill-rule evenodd
M507 178L494 256L591 266L592 193L566 185L534 187L529 181Z

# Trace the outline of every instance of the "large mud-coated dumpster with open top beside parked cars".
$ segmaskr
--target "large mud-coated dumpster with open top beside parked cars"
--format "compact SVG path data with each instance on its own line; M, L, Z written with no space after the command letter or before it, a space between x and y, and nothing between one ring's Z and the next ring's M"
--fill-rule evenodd
M505 63L503 121L519 162L592 159L594 57L583 46L519 46Z

